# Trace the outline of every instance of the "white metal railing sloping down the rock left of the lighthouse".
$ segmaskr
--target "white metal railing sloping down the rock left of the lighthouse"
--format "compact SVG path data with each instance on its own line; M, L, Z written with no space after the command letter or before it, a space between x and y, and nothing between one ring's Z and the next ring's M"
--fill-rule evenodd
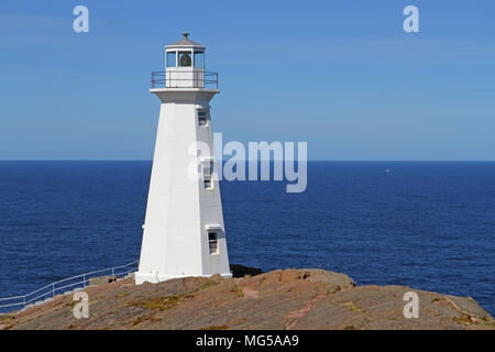
M125 265L103 268L100 271L64 278L33 290L24 296L0 298L0 312L34 306L38 301L44 301L55 297L57 293L68 294L76 288L86 288L89 284L89 279L94 277L110 276L112 279L123 277L129 273L135 272L138 266L139 261L134 261Z

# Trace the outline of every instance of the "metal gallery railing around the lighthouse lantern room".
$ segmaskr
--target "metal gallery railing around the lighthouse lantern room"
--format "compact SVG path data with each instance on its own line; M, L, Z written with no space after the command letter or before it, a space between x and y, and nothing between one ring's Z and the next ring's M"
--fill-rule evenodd
M152 88L215 88L218 89L218 73L208 70L153 72Z

